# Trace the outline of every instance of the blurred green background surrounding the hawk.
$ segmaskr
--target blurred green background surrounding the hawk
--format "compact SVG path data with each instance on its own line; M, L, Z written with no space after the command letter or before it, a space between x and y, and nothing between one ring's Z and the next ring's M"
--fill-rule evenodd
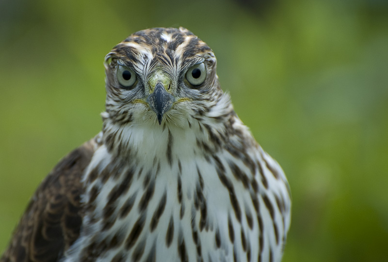
M105 54L171 26L212 47L288 176L283 261L388 261L387 0L0 0L0 252L40 181L100 130Z

